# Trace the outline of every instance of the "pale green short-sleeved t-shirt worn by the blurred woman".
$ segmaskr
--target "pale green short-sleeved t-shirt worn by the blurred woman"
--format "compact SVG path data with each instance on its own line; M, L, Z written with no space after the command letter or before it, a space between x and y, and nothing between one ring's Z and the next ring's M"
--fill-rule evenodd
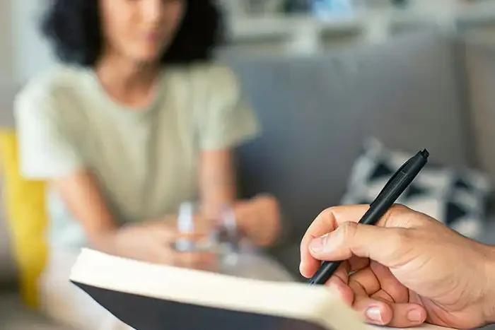
M167 68L153 104L112 100L91 69L60 66L30 81L15 104L21 173L51 179L89 169L118 223L156 219L197 199L201 151L231 148L258 132L226 66ZM47 191L49 241L87 244L78 220Z

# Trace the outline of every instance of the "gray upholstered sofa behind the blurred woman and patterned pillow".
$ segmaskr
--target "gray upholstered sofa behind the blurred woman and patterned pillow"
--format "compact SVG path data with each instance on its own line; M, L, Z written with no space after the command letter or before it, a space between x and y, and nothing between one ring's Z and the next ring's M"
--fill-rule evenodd
M435 162L478 167L495 179L495 61L484 45L433 31L314 57L225 60L264 128L238 151L240 187L243 196L269 191L281 200L293 237L273 253L294 274L299 238L322 209L339 204L366 136L404 151L426 147ZM495 242L492 227L487 220L479 240ZM12 283L8 237L0 232L0 273ZM7 286L1 329L62 329L25 310Z

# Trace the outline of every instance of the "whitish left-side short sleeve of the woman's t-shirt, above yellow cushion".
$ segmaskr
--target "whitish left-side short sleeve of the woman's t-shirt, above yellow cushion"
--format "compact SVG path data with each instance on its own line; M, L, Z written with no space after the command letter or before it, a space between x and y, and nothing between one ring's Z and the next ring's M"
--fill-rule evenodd
M53 179L83 167L74 132L49 93L24 91L16 98L14 114L21 175Z

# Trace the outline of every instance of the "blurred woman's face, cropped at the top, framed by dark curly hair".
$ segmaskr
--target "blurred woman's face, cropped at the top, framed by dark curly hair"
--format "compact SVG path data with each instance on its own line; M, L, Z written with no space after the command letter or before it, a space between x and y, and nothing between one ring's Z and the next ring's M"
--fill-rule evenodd
M185 10L185 0L100 0L105 49L132 61L157 61Z

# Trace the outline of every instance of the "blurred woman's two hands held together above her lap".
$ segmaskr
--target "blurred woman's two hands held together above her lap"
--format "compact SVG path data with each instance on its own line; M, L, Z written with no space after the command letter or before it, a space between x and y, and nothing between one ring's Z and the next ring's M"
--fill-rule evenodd
M279 206L272 196L260 195L238 201L233 205L235 220L241 235L259 247L267 247L279 234ZM194 232L179 232L177 216L127 225L112 237L113 250L123 257L156 264L211 269L216 263L214 254L206 252L178 252L174 248L180 239L202 240L213 229L214 220L201 214L194 216Z

